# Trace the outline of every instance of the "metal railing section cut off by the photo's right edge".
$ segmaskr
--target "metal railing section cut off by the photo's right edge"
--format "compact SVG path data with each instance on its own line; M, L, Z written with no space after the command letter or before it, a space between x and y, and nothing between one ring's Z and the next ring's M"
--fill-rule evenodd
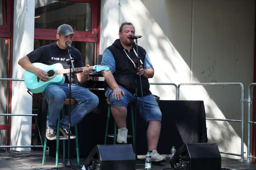
M250 123L251 124L256 124L256 122L252 122L251 119L251 88L252 86L256 85L256 83L251 83L248 87L248 124L247 124L247 162L250 162L249 159L256 159L255 157L250 156Z

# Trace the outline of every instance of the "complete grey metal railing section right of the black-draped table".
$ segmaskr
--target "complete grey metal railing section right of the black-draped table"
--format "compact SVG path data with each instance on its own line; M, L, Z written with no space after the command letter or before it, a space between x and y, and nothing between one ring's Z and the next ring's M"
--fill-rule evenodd
M242 96L241 96L241 120L230 120L230 119L216 119L216 118L206 118L206 120L215 120L215 121L227 121L227 122L241 122L241 154L229 153L229 152L220 152L228 155L240 156L241 160L244 159L244 85L242 83L180 83L177 88L177 100L180 98L180 86L181 85L240 85Z

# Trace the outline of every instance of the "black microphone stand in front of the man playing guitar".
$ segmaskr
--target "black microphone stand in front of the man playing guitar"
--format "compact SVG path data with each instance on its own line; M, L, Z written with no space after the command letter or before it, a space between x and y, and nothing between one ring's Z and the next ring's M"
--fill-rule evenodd
M72 62L72 60L74 58L71 57L71 46L67 46L67 50L68 50L68 55L69 55L69 61L67 61L68 65L69 65L69 103L68 103L68 159L66 160L65 166L57 166L57 167L52 167L52 168L45 168L42 170L49 170L49 169L60 169L60 168L72 168L72 169L76 169L75 167L72 167L72 163L70 160L70 113L71 113L71 68L73 69L73 72L75 73L75 68L74 68L74 64ZM65 154L65 153L63 153Z

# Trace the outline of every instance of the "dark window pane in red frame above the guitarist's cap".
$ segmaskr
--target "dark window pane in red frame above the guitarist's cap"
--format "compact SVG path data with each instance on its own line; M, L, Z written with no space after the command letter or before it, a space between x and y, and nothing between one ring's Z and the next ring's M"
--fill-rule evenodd
M57 29L68 24L75 31L91 31L91 13L91 3L36 0L35 28Z

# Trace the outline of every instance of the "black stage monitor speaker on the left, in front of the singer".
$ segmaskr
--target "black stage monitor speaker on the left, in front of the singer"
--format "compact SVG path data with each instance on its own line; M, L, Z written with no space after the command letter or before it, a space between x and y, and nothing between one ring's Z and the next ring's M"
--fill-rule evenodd
M135 170L132 144L96 145L85 160L86 169Z

